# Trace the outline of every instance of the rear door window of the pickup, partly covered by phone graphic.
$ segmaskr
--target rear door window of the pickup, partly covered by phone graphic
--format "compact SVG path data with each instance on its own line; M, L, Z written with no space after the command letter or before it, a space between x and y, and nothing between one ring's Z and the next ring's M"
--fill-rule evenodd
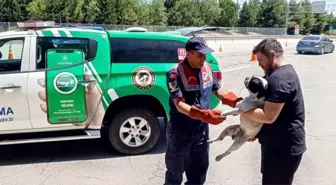
M88 56L89 40L83 38L39 37L36 48L36 69L45 69L46 52L49 49L81 49Z

